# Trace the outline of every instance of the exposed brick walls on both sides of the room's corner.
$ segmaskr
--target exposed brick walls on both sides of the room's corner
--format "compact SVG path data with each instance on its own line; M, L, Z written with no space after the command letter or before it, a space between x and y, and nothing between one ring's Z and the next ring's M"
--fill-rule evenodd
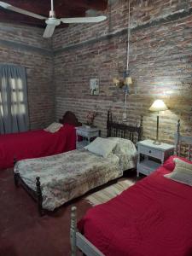
M126 67L127 8L127 1L113 1L106 10L108 20L57 29L53 42L42 38L42 29L0 24L1 62L26 67L32 129L48 125L66 110L85 122L86 113L96 109L95 123L105 135L108 109L121 118L125 95L112 79L122 77ZM160 137L172 141L177 119L192 134L191 8L192 0L131 1L134 85L127 115L130 123L144 115L145 137L155 135L155 114L148 108L156 98L170 108L160 118ZM100 79L99 96L90 96L91 78Z

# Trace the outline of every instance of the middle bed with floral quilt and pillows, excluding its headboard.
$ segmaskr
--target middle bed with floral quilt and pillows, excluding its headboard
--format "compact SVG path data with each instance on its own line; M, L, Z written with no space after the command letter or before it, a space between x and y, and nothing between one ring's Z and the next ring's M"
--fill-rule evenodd
M138 128L138 127L137 127ZM129 139L97 137L87 147L15 164L19 183L38 201L40 214L53 211L90 189L135 168L137 149Z

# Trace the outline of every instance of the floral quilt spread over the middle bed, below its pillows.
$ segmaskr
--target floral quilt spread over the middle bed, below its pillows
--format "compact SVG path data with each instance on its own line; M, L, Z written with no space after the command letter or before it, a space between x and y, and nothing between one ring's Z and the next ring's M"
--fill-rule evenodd
M38 159L20 160L15 172L34 191L40 177L43 208L53 211L90 189L122 176L119 157L103 158L84 148Z

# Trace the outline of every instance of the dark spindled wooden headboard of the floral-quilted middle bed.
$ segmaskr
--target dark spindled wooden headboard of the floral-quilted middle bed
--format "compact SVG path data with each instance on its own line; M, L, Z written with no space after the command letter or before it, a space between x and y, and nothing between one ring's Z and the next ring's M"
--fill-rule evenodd
M113 122L111 111L108 111L107 137L123 137L130 139L134 144L142 139L143 135L143 116L141 116L139 126L131 126Z

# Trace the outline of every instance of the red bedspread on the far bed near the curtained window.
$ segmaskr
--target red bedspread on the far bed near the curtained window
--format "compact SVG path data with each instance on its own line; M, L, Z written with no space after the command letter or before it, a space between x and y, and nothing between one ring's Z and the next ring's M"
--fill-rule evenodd
M0 135L0 170L13 166L14 158L37 158L75 148L76 133L73 125L65 124L55 133L38 130Z

